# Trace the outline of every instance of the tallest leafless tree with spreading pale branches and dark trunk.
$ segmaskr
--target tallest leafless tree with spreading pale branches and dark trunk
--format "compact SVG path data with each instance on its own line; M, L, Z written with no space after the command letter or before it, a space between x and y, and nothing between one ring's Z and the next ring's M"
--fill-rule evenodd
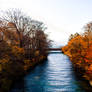
M11 9L1 16L2 21L12 24L16 28L16 33L20 42L20 47L23 47L23 36L30 35L33 29L32 20L18 9ZM10 27L10 26L9 26Z

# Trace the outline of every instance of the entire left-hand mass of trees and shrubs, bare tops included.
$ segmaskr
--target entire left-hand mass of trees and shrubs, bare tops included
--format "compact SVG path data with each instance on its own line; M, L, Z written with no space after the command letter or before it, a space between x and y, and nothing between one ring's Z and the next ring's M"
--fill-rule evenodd
M45 25L18 9L0 16L0 92L47 56L50 46Z

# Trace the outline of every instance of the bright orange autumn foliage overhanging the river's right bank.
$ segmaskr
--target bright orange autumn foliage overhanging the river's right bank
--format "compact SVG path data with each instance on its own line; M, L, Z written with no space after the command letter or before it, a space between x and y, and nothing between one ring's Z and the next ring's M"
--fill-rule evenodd
M92 86L92 40L86 40L91 37L74 34L68 44L62 47L62 52L70 58L77 73L87 80L90 86Z

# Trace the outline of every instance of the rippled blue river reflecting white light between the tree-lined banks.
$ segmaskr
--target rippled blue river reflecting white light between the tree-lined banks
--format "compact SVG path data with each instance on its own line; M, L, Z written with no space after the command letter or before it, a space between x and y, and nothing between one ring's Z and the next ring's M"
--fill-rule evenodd
M35 67L11 92L85 91L75 77L69 58L62 53L50 53L48 59Z

